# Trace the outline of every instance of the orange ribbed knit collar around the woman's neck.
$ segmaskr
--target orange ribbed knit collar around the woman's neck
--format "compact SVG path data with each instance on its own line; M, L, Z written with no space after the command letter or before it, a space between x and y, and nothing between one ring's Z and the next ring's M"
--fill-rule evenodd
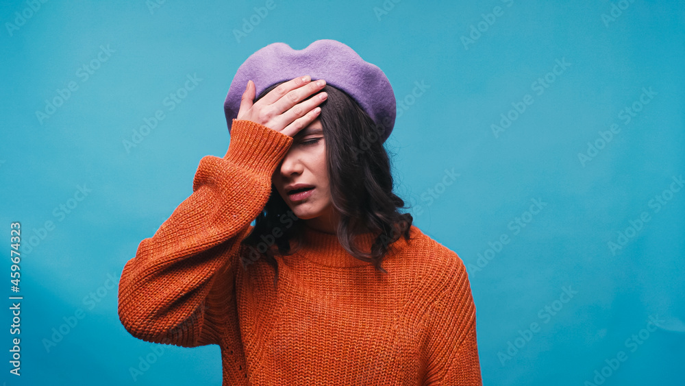
M321 232L308 226L302 228L302 248L297 252L315 265L327 267L359 267L371 266L371 263L355 258L338 241L336 234ZM367 232L357 234L356 245L362 252L370 252L377 233Z

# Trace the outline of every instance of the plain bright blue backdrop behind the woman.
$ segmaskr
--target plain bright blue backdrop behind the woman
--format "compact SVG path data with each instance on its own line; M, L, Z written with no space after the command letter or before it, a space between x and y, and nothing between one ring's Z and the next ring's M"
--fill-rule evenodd
M262 17L265 1L48 1L35 12L2 2L1 243L9 253L21 221L24 296L21 378L8 372L9 300L0 312L2 381L221 384L218 346L129 335L108 275L192 193L199 160L225 154L222 105L238 66L269 43L332 38L379 66L404 104L386 142L397 193L469 268L486 385L591 385L602 371L605 385L685 383L685 190L673 180L685 172L682 1L274 4ZM16 12L30 17L8 27ZM84 64L97 67L87 79ZM164 99L188 75L201 80L171 110ZM428 87L419 95L414 82ZM127 149L157 110L164 119ZM495 135L501 114L518 117ZM459 175L449 186L445 169ZM8 258L0 267L10 295ZM627 360L603 370L619 351ZM155 363L134 382L146 356Z

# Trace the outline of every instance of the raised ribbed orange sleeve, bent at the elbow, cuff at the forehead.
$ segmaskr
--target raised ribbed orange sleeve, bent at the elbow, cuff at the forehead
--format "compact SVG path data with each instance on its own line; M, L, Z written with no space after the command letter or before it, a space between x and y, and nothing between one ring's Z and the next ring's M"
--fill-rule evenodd
M271 175L292 137L234 119L223 158L201 158L192 194L143 239L119 282L119 319L155 343L218 344L235 325L240 242L271 194ZM233 308L233 311L231 310Z

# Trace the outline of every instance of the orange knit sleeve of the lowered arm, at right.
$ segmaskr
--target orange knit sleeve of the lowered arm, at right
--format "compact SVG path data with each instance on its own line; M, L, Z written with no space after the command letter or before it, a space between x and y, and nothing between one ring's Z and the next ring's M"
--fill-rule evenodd
M449 284L429 306L426 385L482 385L475 329L475 304L466 267L458 256Z

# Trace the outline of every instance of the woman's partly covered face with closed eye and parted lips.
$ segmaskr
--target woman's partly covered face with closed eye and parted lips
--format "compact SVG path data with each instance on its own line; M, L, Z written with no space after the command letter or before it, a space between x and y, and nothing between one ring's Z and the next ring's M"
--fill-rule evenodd
M271 183L299 219L305 220L311 228L335 233L337 217L331 201L326 144L319 119L295 134L288 153L271 177ZM292 190L290 186L295 184L313 189L288 194Z

